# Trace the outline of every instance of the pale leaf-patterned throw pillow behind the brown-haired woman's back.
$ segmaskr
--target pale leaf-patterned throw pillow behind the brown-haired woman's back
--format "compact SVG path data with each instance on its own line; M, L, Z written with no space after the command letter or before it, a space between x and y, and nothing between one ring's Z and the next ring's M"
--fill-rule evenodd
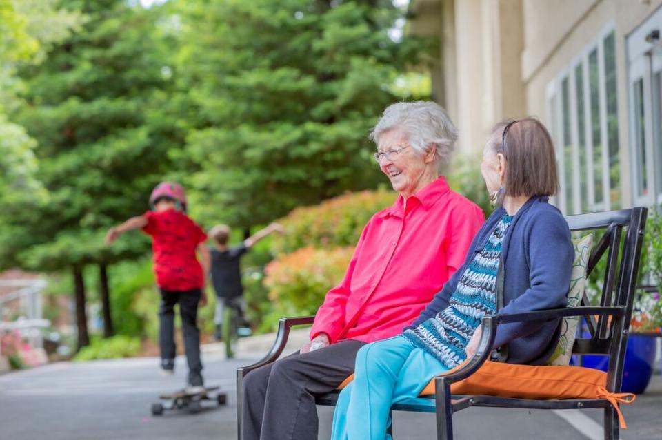
M586 265L591 255L593 235L586 235L579 240L572 240L574 244L574 262L570 273L570 290L568 291L568 307L579 306L581 296L586 284ZM568 365L572 356L572 346L576 337L579 316L568 316L561 323L561 337L556 350L548 360L549 365Z

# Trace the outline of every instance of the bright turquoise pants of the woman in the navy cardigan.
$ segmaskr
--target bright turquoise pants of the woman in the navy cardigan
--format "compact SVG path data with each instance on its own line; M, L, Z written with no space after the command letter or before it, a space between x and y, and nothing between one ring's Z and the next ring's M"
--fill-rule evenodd
M361 347L354 381L338 397L331 440L390 440L391 405L416 398L445 371L437 358L403 336Z

